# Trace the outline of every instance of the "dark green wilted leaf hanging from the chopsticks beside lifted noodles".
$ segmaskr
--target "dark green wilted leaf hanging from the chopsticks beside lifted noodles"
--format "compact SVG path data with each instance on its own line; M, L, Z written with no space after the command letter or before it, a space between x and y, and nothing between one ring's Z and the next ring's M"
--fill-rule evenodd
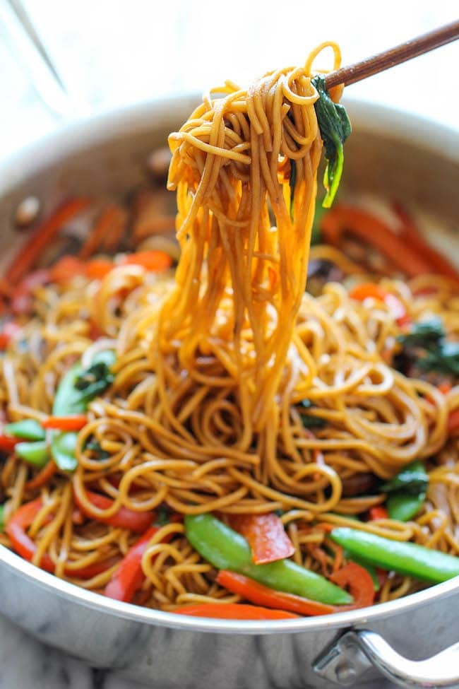
M322 205L324 208L330 208L340 186L344 164L343 144L350 135L352 127L345 107L340 103L334 103L328 95L325 77L318 74L312 83L318 92L318 100L314 103L314 108L327 160L327 167L323 175L326 196Z

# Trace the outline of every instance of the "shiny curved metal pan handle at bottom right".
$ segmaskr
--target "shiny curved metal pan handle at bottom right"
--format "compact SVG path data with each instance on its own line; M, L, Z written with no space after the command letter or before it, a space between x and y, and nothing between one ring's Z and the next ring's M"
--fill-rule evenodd
M314 663L322 678L351 685L371 667L405 689L459 688L459 643L425 660L408 660L369 630L345 632Z

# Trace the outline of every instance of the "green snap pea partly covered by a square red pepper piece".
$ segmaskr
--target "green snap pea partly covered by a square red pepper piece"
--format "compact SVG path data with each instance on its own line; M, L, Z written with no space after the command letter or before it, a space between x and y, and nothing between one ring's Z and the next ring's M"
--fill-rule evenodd
M187 514L185 533L193 548L220 570L239 572L271 589L297 594L321 603L352 603L352 596L347 591L316 572L300 567L293 560L255 565L246 539L212 514Z

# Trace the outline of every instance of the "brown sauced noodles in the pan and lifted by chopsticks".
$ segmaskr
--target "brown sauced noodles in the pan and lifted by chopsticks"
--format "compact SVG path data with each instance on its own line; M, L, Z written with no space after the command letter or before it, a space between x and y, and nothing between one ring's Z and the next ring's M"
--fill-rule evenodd
M35 290L35 317L22 325L30 346L8 346L1 362L10 420L42 422L76 360L88 366L97 352L116 352L113 384L90 402L78 433L74 473L27 488L37 469L16 454L1 469L7 523L41 500L27 525L35 565L100 591L139 537L114 517L165 506L222 519L282 510L294 561L327 576L345 558L330 525L459 554L458 442L448 432L459 387L443 394L393 367L403 327L390 303L354 300L338 281L305 292L322 153L311 76L327 46L337 68L339 49L327 43L304 68L270 72L248 90L228 81L169 136L181 249L174 278L119 264L99 280ZM314 247L311 261L334 264L343 281L368 274L330 245ZM458 336L453 281L378 282L412 322L436 314ZM347 493L350 482L370 476L379 485L415 459L428 461L430 479L416 519L352 519L386 496ZM0 541L11 545L5 534ZM215 583L179 521L151 536L141 567L138 604L170 611L240 600ZM379 600L419 586L391 575Z

